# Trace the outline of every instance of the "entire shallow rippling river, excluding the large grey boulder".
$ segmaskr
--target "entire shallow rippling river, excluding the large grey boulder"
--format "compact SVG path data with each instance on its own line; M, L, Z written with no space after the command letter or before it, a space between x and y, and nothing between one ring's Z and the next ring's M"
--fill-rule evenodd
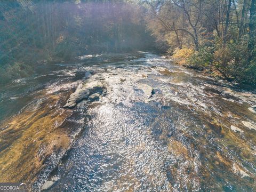
M90 82L106 94L63 108ZM255 90L157 54L53 65L1 87L0 107L1 181L33 181L35 191L256 191Z

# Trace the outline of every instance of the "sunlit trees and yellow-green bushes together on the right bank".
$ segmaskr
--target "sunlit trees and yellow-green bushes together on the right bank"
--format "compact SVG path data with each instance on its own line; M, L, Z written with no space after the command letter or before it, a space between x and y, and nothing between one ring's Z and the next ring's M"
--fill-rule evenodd
M256 84L255 0L145 1L161 49L183 65Z

